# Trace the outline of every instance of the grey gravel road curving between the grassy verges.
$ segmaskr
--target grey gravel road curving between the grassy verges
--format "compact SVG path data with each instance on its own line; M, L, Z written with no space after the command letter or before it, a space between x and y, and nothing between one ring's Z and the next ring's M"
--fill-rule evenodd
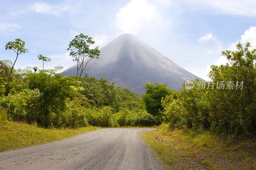
M0 152L1 169L162 169L140 132L149 128L97 129L90 133Z

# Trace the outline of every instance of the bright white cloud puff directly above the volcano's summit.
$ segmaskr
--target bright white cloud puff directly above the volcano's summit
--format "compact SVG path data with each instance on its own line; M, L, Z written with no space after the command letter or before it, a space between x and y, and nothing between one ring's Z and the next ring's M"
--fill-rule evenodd
M123 33L134 33L155 16L156 8L146 0L132 0L116 13L116 24Z

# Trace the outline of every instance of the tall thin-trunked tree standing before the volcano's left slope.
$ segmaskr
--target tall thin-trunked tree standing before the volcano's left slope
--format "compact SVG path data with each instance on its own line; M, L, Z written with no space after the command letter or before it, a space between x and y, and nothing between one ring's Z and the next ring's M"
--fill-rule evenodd
M89 37L88 35L84 35L82 33L76 35L75 39L70 41L67 50L70 51L69 55L74 58L73 61L77 62L77 76L79 75L78 71L81 70L81 77L82 72L84 71L86 66L89 65L92 59L99 59L99 47L95 47L94 49L89 48L94 43L95 42L92 41L92 37Z

